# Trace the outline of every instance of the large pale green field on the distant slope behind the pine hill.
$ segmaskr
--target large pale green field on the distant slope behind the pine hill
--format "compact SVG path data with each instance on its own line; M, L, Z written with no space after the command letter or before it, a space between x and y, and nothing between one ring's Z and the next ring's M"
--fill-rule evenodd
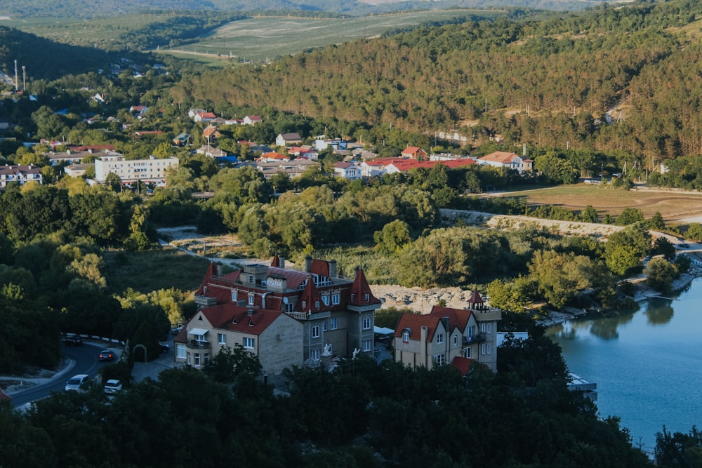
M161 46L160 53L190 53L232 57L239 62L264 62L267 59L298 53L309 48L340 44L355 39L375 37L392 29L440 22L469 15L497 15L500 11L434 10L373 15L354 18L285 18L258 17L230 22L196 44L178 46L172 51Z

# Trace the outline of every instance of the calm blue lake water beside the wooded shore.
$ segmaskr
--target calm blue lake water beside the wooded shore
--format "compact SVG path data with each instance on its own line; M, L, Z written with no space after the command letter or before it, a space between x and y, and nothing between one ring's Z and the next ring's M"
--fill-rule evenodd
M569 371L597 383L602 417L618 416L634 446L656 433L702 428L702 279L634 313L548 328Z

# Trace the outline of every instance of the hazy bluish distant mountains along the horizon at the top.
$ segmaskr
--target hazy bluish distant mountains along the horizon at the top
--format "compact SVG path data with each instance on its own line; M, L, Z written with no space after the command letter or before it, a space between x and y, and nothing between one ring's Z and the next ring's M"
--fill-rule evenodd
M590 0L15 0L0 5L0 17L96 18L142 11L327 11L365 15L427 8L537 8L581 10Z

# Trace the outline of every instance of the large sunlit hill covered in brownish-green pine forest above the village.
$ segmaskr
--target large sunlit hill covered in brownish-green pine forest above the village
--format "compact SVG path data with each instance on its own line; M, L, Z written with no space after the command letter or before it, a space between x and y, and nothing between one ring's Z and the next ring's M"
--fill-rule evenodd
M481 119L506 142L702 154L701 15L670 1L425 27L188 76L172 93L429 134ZM616 125L597 126L609 109Z

